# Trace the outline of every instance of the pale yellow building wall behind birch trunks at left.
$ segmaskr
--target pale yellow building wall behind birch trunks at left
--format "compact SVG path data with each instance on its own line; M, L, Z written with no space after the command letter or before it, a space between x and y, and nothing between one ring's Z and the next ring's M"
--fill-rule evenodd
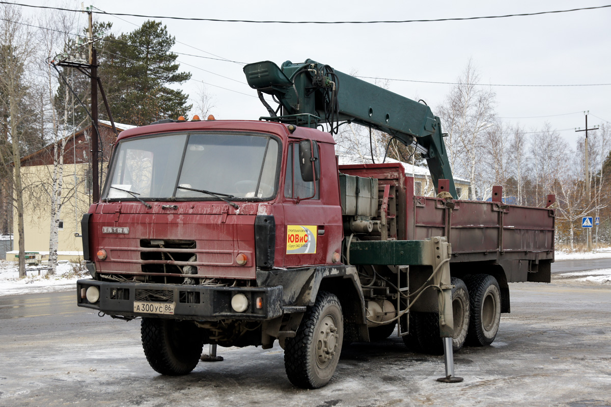
M87 191L87 164L66 164L64 166L64 204L59 219L64 221L63 230L58 232L57 251L59 260L77 261L82 258L81 218L89 210L90 194ZM76 170L76 188L75 188ZM24 236L26 252L49 252L51 232L51 180L53 166L21 167L24 191ZM18 249L19 230L14 217L13 249ZM79 235L78 237L76 235ZM7 260L13 254L7 253ZM48 256L45 255L45 258Z

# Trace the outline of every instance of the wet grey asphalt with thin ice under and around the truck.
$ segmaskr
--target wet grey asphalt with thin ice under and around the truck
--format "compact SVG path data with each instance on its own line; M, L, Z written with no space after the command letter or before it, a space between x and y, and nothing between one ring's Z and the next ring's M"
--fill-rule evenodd
M611 406L611 287L511 284L491 347L443 359L400 338L342 351L331 383L296 389L282 350L219 348L224 362L161 376L147 364L139 323L79 309L74 292L0 297L0 406Z

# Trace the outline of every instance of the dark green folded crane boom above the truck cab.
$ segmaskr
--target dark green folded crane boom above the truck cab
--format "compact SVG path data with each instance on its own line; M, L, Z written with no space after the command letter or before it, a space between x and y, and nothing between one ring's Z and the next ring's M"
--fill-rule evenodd
M326 122L332 133L337 131L335 123L347 120L383 131L422 153L435 188L440 179L447 179L449 192L458 197L441 122L423 103L311 59L302 64L287 61L281 68L271 61L255 62L244 67L244 74L268 109L270 116L262 119L307 127ZM263 94L273 96L279 104L276 110Z

